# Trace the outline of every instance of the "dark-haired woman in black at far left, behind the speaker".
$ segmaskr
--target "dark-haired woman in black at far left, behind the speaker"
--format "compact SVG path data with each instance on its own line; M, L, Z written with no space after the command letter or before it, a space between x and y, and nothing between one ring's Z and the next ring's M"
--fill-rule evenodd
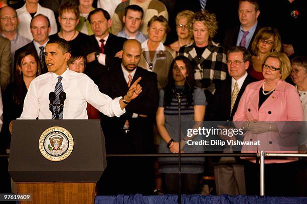
M11 133L9 131L10 122L20 117L24 99L28 92L31 81L40 75L40 59L36 54L23 51L17 57L15 81L8 85L3 94L3 128L1 134L3 138L10 142Z

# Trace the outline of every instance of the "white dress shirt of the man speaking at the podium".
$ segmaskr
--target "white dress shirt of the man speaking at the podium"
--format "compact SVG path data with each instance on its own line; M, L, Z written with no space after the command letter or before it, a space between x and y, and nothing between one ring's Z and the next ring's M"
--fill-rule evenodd
M117 116L125 112L120 108L121 97L110 98L99 91L98 86L84 73L77 73L69 68L61 75L62 84L66 92L63 119L88 119L86 102L108 116ZM31 82L21 117L18 119L51 119L49 110L49 93L54 91L58 82L58 75L54 72L42 74Z

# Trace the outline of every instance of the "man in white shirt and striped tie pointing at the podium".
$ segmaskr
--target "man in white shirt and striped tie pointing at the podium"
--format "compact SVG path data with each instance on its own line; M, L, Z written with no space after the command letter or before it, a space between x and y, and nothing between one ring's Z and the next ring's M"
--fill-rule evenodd
M49 72L31 82L23 112L18 119L88 119L87 102L105 115L119 117L125 112L127 103L142 91L137 84L141 79L139 77L125 95L112 100L101 93L87 75L68 68L70 56L70 47L66 40L49 40L45 48ZM66 93L64 96L63 91Z

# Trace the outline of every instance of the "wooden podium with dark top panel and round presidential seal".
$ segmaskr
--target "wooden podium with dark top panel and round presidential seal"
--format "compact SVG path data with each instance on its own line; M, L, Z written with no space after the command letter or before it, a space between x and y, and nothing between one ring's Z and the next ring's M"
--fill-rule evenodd
M64 138L62 142L58 142L60 138ZM67 156L68 150L64 150L72 146L72 140L73 148ZM64 146L59 154L62 157L51 151L59 152L55 143ZM48 149L52 155L48 155ZM104 136L99 120L14 121L9 172L17 183L18 193L32 194L31 202L19 203L92 204L96 182L105 167Z

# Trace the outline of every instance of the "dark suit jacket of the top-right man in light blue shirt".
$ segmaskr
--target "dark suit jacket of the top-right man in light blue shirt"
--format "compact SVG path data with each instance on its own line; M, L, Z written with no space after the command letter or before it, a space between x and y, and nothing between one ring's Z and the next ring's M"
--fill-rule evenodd
M262 26L260 25L259 21L258 21L258 24L256 26L256 29L255 29L255 32L250 40L250 43L248 45L248 50L251 52L251 44L257 34L257 32L259 31L259 29L261 28ZM240 25L238 26L235 26L235 27L232 27L230 29L228 29L225 33L225 37L224 37L224 41L223 41L223 46L226 48L226 50L228 50L230 47L232 46L236 46L237 44L237 39L238 39L238 34L239 34L239 31L240 31ZM252 52L251 52L252 53Z

